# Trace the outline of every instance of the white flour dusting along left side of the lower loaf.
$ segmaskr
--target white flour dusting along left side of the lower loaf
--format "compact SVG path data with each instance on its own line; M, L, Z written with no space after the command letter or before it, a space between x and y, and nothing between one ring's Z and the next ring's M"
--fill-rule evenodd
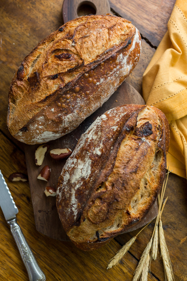
M113 118L113 123L115 124L120 118L123 118L126 115L127 111L124 107L119 107L116 112L115 109L110 109L105 114L98 117L92 125L87 129L87 131L80 137L72 155L66 161L66 164L61 172L62 183L57 189L57 195L60 200L62 199L62 194L65 196L65 200L70 199L70 208L66 212L66 217L68 218L70 212L73 212L74 220L77 218L78 214L78 201L76 199L76 190L81 187L83 184L83 179L86 181L91 175L93 164L93 158L90 155L95 155L100 157L102 155L101 150L104 147L104 140L102 137L102 122L108 122L108 120ZM104 124L103 124L104 126ZM117 126L111 126L110 134L112 135L116 131ZM90 151L84 150L84 161L77 159L74 155L77 155L79 150L81 150L85 142L87 146L90 142L93 142L94 145L91 145ZM71 176L70 176L71 170ZM69 188L71 186L71 188Z

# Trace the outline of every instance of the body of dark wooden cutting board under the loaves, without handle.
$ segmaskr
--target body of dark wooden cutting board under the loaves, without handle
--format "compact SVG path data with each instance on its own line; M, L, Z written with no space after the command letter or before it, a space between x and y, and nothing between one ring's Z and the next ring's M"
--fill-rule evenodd
M70 148L74 150L77 141L80 136L88 129L93 121L105 111L121 106L124 104L145 104L141 95L127 82L123 82L118 87L117 91L106 101L102 107L95 111L91 116L84 120L77 129L71 133L57 139L50 141L50 149L55 148ZM54 160L50 157L49 150L45 156L43 164L39 167L35 164L35 150L39 145L25 145L25 156L27 172L29 177L29 184L31 190L31 198L34 210L36 229L51 238L59 240L69 240L65 234L65 231L60 222L57 209L56 209L56 197L51 197L44 194L46 186L55 187L58 182L58 177L61 173L66 160ZM43 166L49 165L51 168L51 177L48 182L44 180L38 180ZM131 230L135 230L142 225L150 222L157 215L157 204L152 207L149 213L146 215L143 221L133 227Z

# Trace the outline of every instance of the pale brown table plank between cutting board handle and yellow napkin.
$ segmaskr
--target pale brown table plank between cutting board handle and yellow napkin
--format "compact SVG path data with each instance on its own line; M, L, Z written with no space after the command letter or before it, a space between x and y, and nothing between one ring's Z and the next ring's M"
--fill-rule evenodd
M140 30L143 37L157 47L167 31L167 22L175 0L109 0L110 7Z

